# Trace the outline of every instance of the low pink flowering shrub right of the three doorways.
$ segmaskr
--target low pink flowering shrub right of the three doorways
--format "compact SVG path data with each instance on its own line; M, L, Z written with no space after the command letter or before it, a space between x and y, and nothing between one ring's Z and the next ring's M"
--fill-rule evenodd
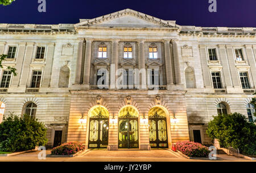
M188 157L208 157L208 147L197 142L180 141L176 143L176 149Z

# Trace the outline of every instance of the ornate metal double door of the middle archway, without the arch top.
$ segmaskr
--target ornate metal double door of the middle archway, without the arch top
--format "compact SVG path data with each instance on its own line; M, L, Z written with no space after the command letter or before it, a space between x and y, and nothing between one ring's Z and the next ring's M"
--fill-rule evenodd
M138 148L138 117L130 115L129 111L125 116L119 117L119 135L118 147L119 148Z

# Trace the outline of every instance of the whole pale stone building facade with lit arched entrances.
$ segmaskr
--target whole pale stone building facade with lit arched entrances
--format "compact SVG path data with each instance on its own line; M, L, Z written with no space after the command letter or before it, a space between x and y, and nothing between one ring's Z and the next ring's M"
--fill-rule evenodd
M0 24L0 121L11 112L35 116L47 126L48 147L210 144L212 116L240 112L255 121L255 34L130 9L77 24Z

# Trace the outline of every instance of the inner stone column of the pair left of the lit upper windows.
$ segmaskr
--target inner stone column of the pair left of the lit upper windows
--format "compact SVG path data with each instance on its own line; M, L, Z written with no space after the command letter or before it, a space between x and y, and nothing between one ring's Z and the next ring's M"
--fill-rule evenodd
M84 77L82 84L87 85L89 88L90 85L90 64L92 58L92 39L86 38L85 45L85 59L84 59Z

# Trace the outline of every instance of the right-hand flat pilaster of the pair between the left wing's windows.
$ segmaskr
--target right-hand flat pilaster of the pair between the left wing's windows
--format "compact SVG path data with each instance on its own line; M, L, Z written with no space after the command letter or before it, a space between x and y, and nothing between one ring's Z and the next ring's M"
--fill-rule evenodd
M35 43L27 43L27 50L24 57L22 76L20 78L20 86L27 87L28 74L30 73L30 63L33 55Z

